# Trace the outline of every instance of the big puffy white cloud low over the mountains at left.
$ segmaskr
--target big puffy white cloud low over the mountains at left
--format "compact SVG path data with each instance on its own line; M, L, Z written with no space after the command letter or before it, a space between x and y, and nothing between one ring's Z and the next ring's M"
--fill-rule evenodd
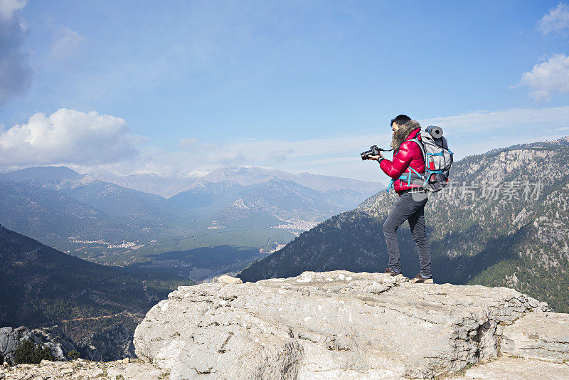
M36 113L26 124L0 130L0 168L120 162L137 154L133 141L119 117L65 108Z

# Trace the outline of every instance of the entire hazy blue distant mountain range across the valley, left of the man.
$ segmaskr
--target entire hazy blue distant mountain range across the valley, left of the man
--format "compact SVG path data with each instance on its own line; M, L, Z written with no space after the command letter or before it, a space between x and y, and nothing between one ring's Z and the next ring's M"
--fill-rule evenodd
M0 223L97 263L168 251L271 250L383 186L255 167L220 168L166 199L79 174L33 167L0 174Z

